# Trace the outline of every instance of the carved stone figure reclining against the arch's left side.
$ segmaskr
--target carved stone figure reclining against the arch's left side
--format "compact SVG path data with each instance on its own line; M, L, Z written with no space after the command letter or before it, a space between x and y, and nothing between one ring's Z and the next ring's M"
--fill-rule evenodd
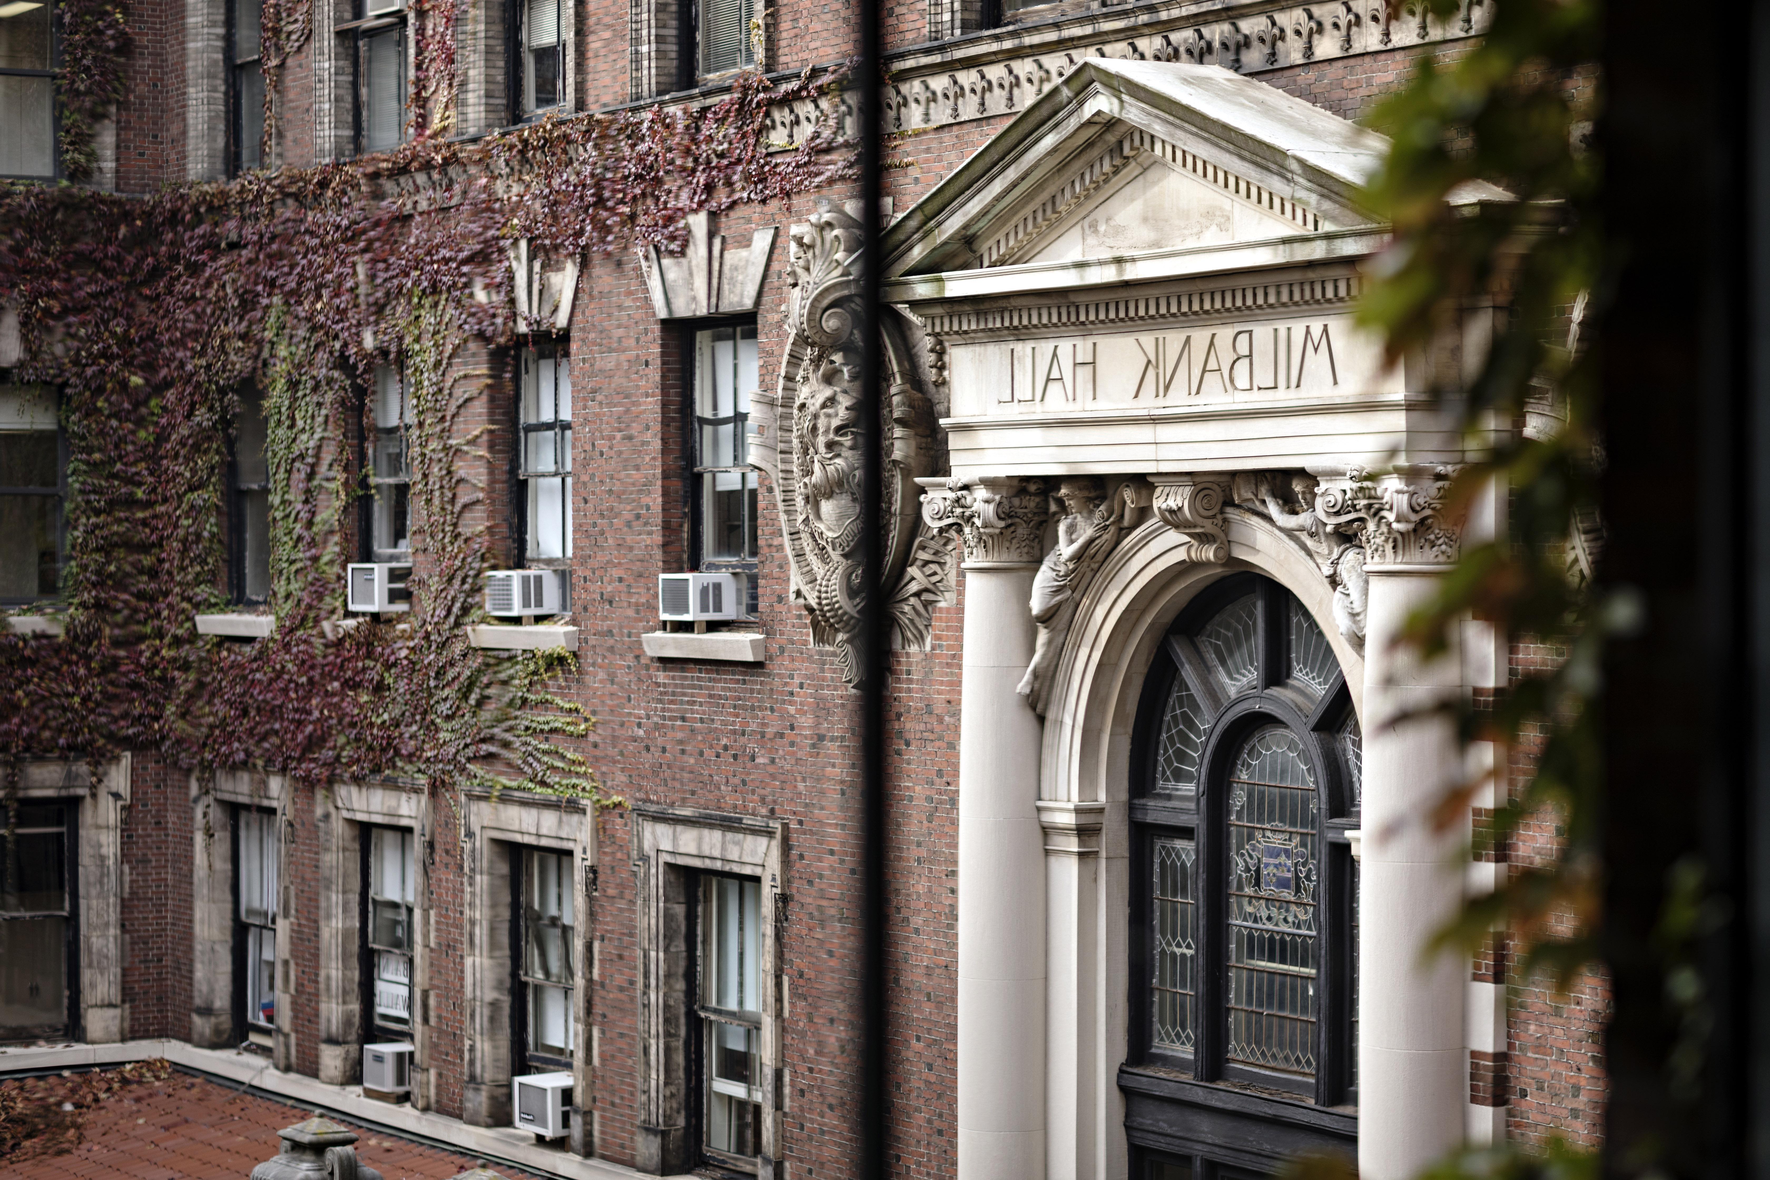
M1064 479L1053 499L1064 513L1057 522L1057 545L1032 579L1032 621L1039 624L1039 637L1018 690L1039 716L1051 697L1051 672L1076 617L1076 603L1136 518L1135 490L1108 499L1106 485L1096 476Z

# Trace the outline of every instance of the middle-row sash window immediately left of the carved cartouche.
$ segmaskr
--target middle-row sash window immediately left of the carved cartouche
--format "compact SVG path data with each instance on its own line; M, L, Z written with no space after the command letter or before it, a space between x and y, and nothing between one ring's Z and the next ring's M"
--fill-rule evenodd
M756 327L694 338L694 522L703 571L750 575L756 594L758 485L749 465L750 396L759 380Z

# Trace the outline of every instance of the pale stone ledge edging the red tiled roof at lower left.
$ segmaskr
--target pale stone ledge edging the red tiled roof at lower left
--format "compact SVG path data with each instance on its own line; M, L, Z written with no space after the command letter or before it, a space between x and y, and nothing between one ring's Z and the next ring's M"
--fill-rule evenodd
M458 1118L414 1111L407 1104L379 1102L363 1097L361 1086L327 1086L303 1074L285 1074L264 1056L237 1049L198 1049L182 1040L126 1040L108 1046L69 1044L50 1049L0 1049L0 1076L127 1065L149 1058L166 1058L173 1065L193 1069L211 1077L244 1083L280 1099L317 1106L343 1118L389 1130L393 1134L421 1136L458 1150L466 1155L497 1161L512 1168L533 1171L538 1176L565 1180L634 1180L641 1173L598 1159L582 1159L559 1148L535 1141L535 1134L515 1127L469 1127ZM297 1122L290 1116L290 1122ZM266 1141L266 1152L276 1148ZM680 1176L678 1180L692 1180Z

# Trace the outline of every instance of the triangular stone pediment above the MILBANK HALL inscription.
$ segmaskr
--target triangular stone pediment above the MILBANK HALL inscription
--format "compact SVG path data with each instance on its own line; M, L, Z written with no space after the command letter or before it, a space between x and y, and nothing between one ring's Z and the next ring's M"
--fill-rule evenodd
M1218 65L1089 58L890 226L885 271L908 278L1374 226L1363 186L1388 147Z

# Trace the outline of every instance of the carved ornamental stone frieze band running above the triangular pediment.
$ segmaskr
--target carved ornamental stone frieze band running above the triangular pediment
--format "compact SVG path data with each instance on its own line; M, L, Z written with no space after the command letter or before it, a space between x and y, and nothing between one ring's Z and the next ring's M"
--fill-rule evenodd
M890 131L919 131L972 119L1012 115L1062 81L1089 58L1184 62L1260 74L1304 62L1453 41L1487 32L1492 5L1460 0L1435 16L1420 0L1359 0L1264 9L1243 0L1200 19L1197 5L1166 0L1138 9L1135 28L1106 35L1092 21L1081 28L1030 27L1012 48L979 39L892 55L892 83L881 96ZM855 134L853 94L834 92L768 111L773 150L798 145L812 127Z

